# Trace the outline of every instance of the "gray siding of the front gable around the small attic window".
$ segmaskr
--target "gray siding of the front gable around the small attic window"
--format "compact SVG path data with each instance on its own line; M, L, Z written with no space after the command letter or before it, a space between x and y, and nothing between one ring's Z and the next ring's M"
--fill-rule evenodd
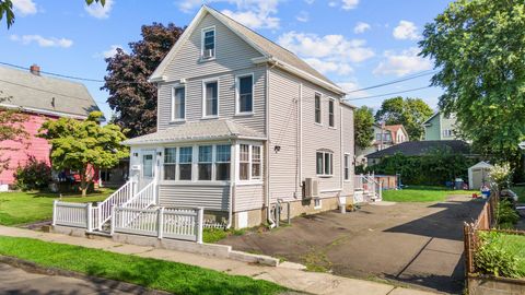
M201 32L202 28L210 26L215 26L215 59L201 61ZM183 44L162 74L167 78L167 81L213 75L250 68L252 59L261 56L224 24L208 14Z

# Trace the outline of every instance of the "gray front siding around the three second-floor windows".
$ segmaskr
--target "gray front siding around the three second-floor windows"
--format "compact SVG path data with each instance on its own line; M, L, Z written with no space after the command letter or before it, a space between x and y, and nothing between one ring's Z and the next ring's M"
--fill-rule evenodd
M206 75L190 79L186 87L186 121L202 119L202 82L217 79L219 81L219 117L229 118L249 127L261 134L266 133L266 66L252 67L244 70L231 71L218 75ZM235 83L236 76L254 74L254 114L248 116L235 115ZM159 130L163 130L184 122L171 122L172 88L177 83L159 84Z

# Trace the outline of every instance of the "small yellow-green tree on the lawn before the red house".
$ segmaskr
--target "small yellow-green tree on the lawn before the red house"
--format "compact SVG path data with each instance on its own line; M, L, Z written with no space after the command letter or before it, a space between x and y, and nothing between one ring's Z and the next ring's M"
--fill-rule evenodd
M120 144L126 139L120 127L101 126L101 111L93 111L84 121L47 120L39 130L39 135L51 144L52 167L79 172L82 196L86 194L95 168L110 168L128 156L128 150Z

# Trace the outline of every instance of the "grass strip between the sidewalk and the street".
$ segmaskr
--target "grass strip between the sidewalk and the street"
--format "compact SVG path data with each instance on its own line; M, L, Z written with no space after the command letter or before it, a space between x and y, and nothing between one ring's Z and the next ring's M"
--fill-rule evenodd
M0 236L0 255L174 294L277 294L285 291L277 284L247 276L30 238Z

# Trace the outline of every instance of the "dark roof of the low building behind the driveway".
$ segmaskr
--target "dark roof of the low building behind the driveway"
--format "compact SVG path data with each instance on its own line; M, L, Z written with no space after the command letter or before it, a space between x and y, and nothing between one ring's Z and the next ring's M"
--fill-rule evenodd
M470 145L463 140L424 140L424 141L407 141L393 145L385 150L366 155L369 158L378 158L392 156L397 153L407 156L419 156L438 149L451 149L453 153L469 155Z

